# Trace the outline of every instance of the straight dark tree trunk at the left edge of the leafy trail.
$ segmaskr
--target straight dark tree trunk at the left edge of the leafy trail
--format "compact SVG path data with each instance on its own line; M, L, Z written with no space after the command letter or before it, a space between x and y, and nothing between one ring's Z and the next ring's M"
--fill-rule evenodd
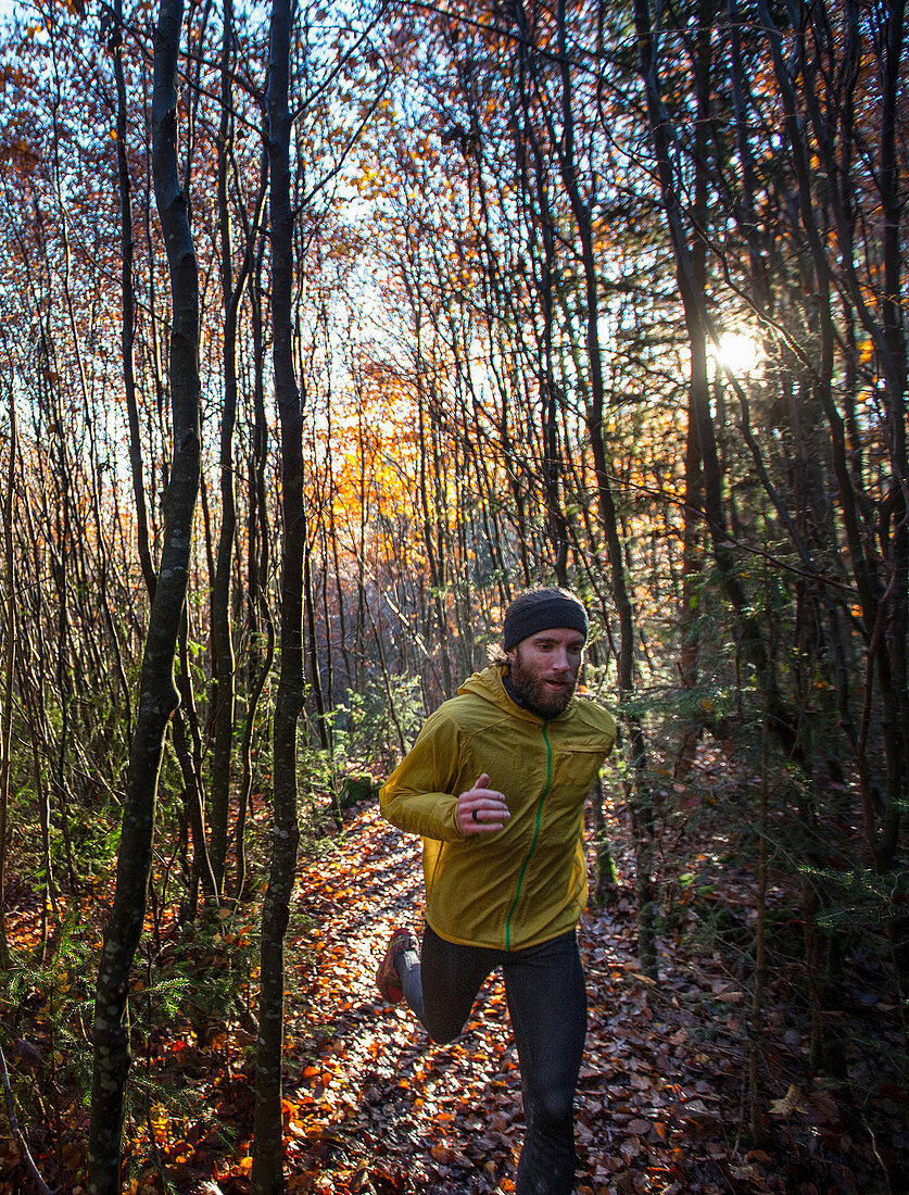
M300 838L296 815L296 739L303 707L303 451L300 391L294 374L294 280L290 206L290 0L274 0L269 42L269 165L271 174L271 311L275 392L281 419L283 559L281 672L275 705L275 825L269 888L262 909L262 989L256 1059L251 1190L283 1190L281 1062L284 1024L284 933Z

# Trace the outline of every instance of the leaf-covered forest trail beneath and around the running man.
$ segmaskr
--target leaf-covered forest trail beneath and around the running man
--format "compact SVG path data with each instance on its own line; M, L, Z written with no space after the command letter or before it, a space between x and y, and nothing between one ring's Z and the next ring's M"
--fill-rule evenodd
M419 925L418 840L361 807L342 839L303 860L299 884L314 958L299 976L302 998L290 1000L288 1035L312 1056L285 1083L290 1190L514 1190L523 1120L500 976L448 1046L431 1044L404 1006L375 991L389 931ZM671 962L655 989L638 973L633 929L628 901L588 911L581 926L590 1019L577 1190L787 1189L768 1184L766 1154L733 1157L725 1126L739 1121L742 1059L727 1043L696 1041L705 1035L683 1007L682 987L690 997L700 986L735 1018L743 993L708 970L682 980Z

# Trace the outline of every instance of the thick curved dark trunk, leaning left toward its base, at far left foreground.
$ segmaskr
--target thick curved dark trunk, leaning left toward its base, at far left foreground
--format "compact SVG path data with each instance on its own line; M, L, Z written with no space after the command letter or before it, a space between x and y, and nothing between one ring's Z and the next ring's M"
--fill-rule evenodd
M123 1092L130 1064L129 974L146 912L164 739L178 703L173 657L186 598L198 492L198 277L186 202L177 173L176 78L182 18L182 0L162 0L154 41L152 106L155 197L173 294L173 466L165 500L161 566L142 660L139 718L127 773L117 883L98 969L88 1130L90 1195L115 1195L121 1188Z

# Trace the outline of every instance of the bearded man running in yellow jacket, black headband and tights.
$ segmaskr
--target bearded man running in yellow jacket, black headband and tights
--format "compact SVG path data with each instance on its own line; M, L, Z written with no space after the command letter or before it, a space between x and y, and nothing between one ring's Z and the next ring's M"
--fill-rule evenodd
M576 695L588 630L566 590L516 598L502 660L428 718L380 793L388 821L423 836L426 927L422 951L394 931L379 989L448 1042L502 967L527 1127L517 1195L570 1195L575 1184L584 803L615 741L612 716Z

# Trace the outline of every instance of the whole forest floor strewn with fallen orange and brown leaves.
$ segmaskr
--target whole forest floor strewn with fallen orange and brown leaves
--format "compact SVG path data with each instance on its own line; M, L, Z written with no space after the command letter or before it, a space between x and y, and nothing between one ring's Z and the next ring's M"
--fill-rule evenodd
M627 829L614 823L612 832L620 874L631 875L627 848L621 851ZM699 858L699 881L711 859L717 869L713 884L699 884L714 914L718 906L725 914L714 915L715 925L731 925L750 940L754 877L724 866L715 851L704 850ZM288 934L288 1190L512 1191L523 1120L498 974L487 981L463 1035L448 1046L434 1046L404 1006L385 1004L375 991L376 962L392 927L420 924L418 841L382 821L374 803L355 807L340 835L311 842L297 891ZM698 911L682 901L680 913L686 932L661 939L658 983L639 972L629 890L620 887L613 906L589 909L582 919L590 1016L577 1097L578 1195L909 1191L909 1093L899 1078L892 1000L847 967L840 1028L852 1043L850 1071L849 1081L836 1085L809 1071L798 980L785 974L778 980L760 1042L766 1135L758 1147L748 1133L750 976L730 963L729 949L711 946L702 906ZM177 949L185 934L176 924L171 933ZM244 951L254 952L250 927L225 936L217 954L201 954L190 974L247 968ZM80 982L87 1005L90 983ZM139 999L141 981L136 988ZM182 991L185 1013L194 992ZM254 1027L247 1017L244 1028L242 1017L208 1003L204 1024L196 1019L195 1030L179 1028L178 1009L137 1041L131 1081L160 1095L149 1096L156 1102L145 1119L131 1121L131 1135L128 1126L129 1193L248 1191ZM24 1027L18 1032L27 1037ZM19 1037L17 1046L18 1054L7 1050L13 1078L22 1081L30 1066L41 1077L38 1052ZM51 1056L60 1058L56 1047ZM891 1066L887 1059L896 1061ZM179 1114L180 1090L204 1115ZM42 1107L48 1109L47 1095ZM32 1152L55 1191L80 1195L85 1107L61 1099L43 1119L43 1128L26 1126ZM0 1195L32 1189L4 1124Z

